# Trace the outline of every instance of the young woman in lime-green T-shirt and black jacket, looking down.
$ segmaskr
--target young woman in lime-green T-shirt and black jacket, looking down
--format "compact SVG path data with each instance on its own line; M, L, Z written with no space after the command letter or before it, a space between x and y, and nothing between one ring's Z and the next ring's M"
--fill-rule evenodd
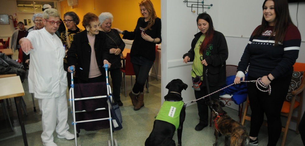
M202 13L197 17L197 26L200 30L195 34L189 52L183 55L183 62L193 62L192 79L201 76L200 91L195 91L195 98L208 95L208 88L204 77L203 65L207 69L210 93L220 89L226 82L226 60L228 59L228 45L224 35L214 30L212 18ZM212 94L211 98L219 99L219 93ZM198 100L199 124L195 130L200 131L208 125L209 108L205 100Z

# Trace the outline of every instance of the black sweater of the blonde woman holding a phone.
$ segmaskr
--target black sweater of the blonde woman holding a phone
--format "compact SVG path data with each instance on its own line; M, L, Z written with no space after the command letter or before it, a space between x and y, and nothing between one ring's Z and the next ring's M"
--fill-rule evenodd
M145 28L147 25L148 22L145 22L144 18L140 17L133 32L126 30L124 31L123 39L134 40L131 46L130 57L142 56L151 61L154 61L156 58L156 43L146 41L141 37L140 27ZM151 29L152 30L145 30L145 34L151 36L153 39L159 38L160 42L157 44L160 44L162 42L160 18L156 18L155 24L151 27Z

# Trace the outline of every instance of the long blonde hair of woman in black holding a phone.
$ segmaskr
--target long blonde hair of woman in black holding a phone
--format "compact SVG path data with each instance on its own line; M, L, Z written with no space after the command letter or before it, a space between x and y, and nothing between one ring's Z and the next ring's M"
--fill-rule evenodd
M157 14L155 9L153 8L153 3L150 0L143 0L139 3L139 6L144 6L146 10L149 12L148 16L148 25L144 28L144 30L152 30L151 27L155 24L155 20L157 18ZM140 10L141 13L141 10ZM141 13L142 15L142 13ZM142 15L143 17L143 15Z

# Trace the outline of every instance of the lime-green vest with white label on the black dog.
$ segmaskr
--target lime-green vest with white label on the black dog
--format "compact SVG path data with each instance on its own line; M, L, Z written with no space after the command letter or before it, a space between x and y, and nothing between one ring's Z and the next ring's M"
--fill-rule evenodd
M179 119L180 112L183 105L184 105L183 101L175 101L175 102L164 101L156 117L156 120L169 122L175 125L177 130L180 122Z

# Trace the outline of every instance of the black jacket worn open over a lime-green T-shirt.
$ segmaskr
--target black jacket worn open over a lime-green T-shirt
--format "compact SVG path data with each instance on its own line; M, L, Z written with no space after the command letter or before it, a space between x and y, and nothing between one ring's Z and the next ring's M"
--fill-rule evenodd
M189 62L193 62L195 59L195 44L202 35L201 32L195 34L195 38L191 43L191 49L189 52L183 55L190 57ZM212 46L209 55L203 54L203 58L208 63L206 66L208 70L209 86L222 86L226 83L226 60L228 59L228 45L224 35L218 31L214 31L212 42L209 44ZM203 85L206 86L205 77L203 77Z

